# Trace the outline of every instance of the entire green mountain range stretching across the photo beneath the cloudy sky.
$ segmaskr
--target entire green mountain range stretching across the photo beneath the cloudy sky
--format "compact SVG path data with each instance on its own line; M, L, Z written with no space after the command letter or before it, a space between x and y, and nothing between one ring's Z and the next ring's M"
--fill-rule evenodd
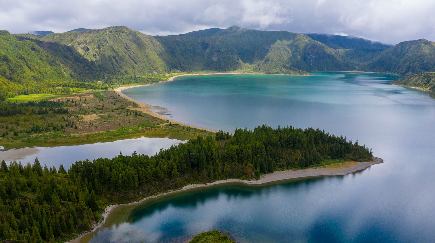
M425 39L390 47L348 36L238 26L177 36L148 36L125 26L39 36L4 32L0 39L0 99L89 87L94 85L91 80L106 75L178 70L298 75L361 70L406 76L435 72L435 43Z

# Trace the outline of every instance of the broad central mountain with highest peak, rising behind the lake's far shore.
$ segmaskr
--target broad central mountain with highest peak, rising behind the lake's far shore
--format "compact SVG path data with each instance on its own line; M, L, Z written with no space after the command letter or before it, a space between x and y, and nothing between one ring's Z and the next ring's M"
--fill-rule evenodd
M333 49L308 36L286 31L248 30L237 26L208 33L154 36L169 54L169 67L305 74L319 70L349 70ZM200 36L200 37L197 37ZM301 69L305 72L301 72Z

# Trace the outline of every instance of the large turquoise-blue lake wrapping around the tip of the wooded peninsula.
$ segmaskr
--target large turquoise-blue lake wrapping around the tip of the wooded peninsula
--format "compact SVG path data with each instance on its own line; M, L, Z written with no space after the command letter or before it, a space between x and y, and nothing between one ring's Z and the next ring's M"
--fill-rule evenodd
M434 242L435 99L389 84L397 78L190 76L124 90L167 108L168 118L214 130L325 129L358 139L385 163L344 177L221 185L121 207L90 242L185 242L214 229L240 243Z

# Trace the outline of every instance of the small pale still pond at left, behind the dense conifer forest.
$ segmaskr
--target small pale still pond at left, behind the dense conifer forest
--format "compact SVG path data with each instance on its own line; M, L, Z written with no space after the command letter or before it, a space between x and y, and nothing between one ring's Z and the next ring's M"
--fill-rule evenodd
M132 138L113 142L82 144L74 146L57 146L57 147L31 147L18 148L6 151L0 151L0 161L7 162L16 160L21 161L23 165L33 164L35 158L40 163L47 164L47 167L55 166L59 168L60 163L64 164L67 170L75 161L89 160L96 158L114 158L121 152L124 155L131 155L134 151L138 154L154 155L161 148L171 148L172 145L179 144L180 140L168 138Z

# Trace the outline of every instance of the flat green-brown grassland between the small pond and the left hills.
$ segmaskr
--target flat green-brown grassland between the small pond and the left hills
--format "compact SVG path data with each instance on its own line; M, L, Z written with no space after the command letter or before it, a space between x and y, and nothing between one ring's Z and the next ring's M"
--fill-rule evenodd
M21 95L12 102L63 101L67 115L32 114L0 117L0 146L5 149L30 146L60 146L114 141L125 138L169 137L189 139L210 132L165 120L134 110L136 103L113 90L86 91L60 95ZM3 103L4 104L4 103ZM50 131L28 133L35 125ZM54 124L54 125L53 125ZM60 128L60 129L59 129Z

